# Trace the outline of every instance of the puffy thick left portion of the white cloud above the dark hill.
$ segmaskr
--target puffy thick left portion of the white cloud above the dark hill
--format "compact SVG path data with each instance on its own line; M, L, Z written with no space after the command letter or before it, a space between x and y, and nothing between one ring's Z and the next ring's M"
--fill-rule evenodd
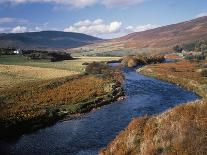
M73 26L65 28L64 31L85 33L97 36L101 34L111 34L120 32L121 26L122 23L118 21L113 21L107 24L102 19L96 19L94 21L84 20L73 24Z

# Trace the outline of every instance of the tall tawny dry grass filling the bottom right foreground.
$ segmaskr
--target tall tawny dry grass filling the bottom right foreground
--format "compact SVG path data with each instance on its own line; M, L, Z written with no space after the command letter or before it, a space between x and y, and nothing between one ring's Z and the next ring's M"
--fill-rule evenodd
M205 155L207 101L178 106L161 115L134 119L101 155Z

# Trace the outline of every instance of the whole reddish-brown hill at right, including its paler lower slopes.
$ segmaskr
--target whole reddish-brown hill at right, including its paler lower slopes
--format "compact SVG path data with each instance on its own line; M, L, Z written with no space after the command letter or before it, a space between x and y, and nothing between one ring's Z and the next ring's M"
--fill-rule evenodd
M124 37L85 46L82 49L88 51L96 49L99 54L101 52L109 53L107 52L109 50L114 51L114 54L119 51L157 54L170 52L172 47L177 44L192 43L196 40L207 40L207 17L200 17L144 32L135 32Z

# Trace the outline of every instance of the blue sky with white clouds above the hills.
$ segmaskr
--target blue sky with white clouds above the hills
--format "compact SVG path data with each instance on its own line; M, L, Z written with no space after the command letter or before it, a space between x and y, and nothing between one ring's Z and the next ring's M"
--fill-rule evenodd
M115 38L201 16L207 16L207 0L0 0L0 33Z

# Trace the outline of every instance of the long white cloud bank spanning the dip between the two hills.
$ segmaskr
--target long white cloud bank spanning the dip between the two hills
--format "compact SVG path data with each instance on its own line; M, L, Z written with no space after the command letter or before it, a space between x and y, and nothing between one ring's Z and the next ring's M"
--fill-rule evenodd
M159 27L159 25L146 24L138 26L123 26L120 21L106 23L102 19L83 20L64 29L65 32L85 33L102 38L120 37L133 32L141 32Z

